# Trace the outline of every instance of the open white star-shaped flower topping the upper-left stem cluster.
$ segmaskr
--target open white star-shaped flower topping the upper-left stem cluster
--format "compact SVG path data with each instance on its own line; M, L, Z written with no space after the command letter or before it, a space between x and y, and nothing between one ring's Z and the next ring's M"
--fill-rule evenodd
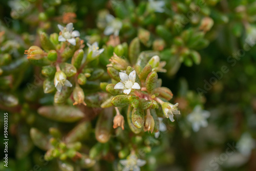
M77 30L74 30L73 23L67 24L66 27L58 25L59 30L61 31L61 35L59 35L59 41L68 41L71 45L76 45L75 37L79 37L80 33ZM74 31L73 31L74 30Z

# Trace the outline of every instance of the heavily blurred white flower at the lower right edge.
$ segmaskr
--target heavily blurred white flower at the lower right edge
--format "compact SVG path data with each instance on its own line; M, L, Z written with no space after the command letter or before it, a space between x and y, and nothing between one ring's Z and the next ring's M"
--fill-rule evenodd
M255 140L249 133L244 133L237 143L238 151L244 156L250 156L251 150L255 148Z

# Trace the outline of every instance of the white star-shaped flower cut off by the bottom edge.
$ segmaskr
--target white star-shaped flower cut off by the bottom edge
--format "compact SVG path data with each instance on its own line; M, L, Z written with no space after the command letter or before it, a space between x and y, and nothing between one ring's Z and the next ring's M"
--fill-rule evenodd
M140 171L140 167L146 164L145 160L138 159L136 155L130 155L126 160L120 160L124 166L123 171Z

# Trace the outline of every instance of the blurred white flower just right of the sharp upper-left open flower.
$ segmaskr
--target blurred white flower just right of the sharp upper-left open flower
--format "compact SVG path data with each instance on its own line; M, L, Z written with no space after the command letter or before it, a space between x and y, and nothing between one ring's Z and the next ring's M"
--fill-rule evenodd
M115 36L119 35L119 31L122 28L122 22L119 19L116 19L113 15L106 15L106 22L108 25L104 30L105 35L111 35L114 33Z

